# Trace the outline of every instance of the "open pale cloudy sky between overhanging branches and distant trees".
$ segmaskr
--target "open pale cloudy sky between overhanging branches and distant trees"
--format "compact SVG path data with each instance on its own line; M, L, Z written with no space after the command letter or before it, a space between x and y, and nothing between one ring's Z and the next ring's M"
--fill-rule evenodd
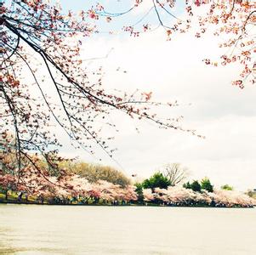
M76 6L70 1L60 2L64 9L82 7L82 1ZM147 8L145 4L144 11ZM64 135L61 153L117 167L128 176L136 173L137 178L149 177L166 163L179 162L188 167L189 179L208 177L217 187L230 184L236 190L256 188L256 88L248 84L241 90L231 85L239 71L237 65L216 68L202 62L224 54L218 48L221 40L211 33L201 39L187 33L169 42L161 29L138 38L122 33L88 38L83 57L99 58L86 65L103 66L106 89L133 92L139 88L152 91L156 101L177 99L178 107L161 114L184 116L182 126L196 129L206 139L117 114L112 118L120 132L111 144L118 148L116 161L104 156L100 148L95 157L75 150Z

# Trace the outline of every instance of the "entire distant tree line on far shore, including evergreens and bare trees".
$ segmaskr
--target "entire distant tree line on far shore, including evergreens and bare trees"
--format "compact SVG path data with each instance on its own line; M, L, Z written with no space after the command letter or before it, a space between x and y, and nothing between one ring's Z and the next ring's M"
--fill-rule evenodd
M0 201L40 202L54 204L165 205L206 207L252 207L256 202L225 184L214 188L209 178L185 182L186 167L168 164L142 182L131 184L124 173L114 167L82 161L58 159L58 173L43 158L36 158L37 169L25 171L17 185L17 177L4 164L14 165L13 157L3 156L0 169ZM7 168L9 169L9 167ZM38 174L38 169L41 174ZM27 173L30 173L29 175Z

